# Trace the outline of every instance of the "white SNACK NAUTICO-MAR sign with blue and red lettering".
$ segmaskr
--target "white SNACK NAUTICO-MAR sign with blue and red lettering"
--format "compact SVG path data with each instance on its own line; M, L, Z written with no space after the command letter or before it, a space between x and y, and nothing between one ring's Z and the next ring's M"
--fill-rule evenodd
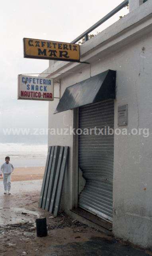
M54 100L53 79L39 76L18 75L18 99Z

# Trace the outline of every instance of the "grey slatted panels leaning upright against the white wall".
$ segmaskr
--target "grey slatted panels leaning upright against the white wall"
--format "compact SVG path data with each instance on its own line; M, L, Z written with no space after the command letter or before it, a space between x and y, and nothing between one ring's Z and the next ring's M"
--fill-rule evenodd
M68 146L50 146L41 188L39 207L58 215L68 161Z

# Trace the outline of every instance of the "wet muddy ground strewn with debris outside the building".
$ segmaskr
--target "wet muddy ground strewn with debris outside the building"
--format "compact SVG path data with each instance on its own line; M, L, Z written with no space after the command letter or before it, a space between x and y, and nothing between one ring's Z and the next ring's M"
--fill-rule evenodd
M150 251L106 236L63 212L57 218L38 208L41 181L13 182L0 193L1 256L146 256ZM35 219L46 217L48 236L36 236Z

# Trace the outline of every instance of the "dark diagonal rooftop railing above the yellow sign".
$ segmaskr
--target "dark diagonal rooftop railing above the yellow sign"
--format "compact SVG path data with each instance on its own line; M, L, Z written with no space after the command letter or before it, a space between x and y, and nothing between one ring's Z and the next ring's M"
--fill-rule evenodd
M95 28L97 28L98 26L100 26L101 24L103 24L106 20L109 20L109 18L111 18L113 15L115 15L117 12L119 12L121 9L123 9L125 6L127 6L129 4L129 0L125 0L123 1L121 4L119 4L116 8L114 8L111 12L109 12L107 15L105 15L101 20L99 20L98 22L96 22L93 26L91 26L90 28L88 28L85 32L83 32L80 36L78 36L77 38L75 38L71 44L75 44L76 42L78 42L79 40L81 40L82 38L85 38L85 41L87 41L88 38L88 34L90 32L92 32Z

